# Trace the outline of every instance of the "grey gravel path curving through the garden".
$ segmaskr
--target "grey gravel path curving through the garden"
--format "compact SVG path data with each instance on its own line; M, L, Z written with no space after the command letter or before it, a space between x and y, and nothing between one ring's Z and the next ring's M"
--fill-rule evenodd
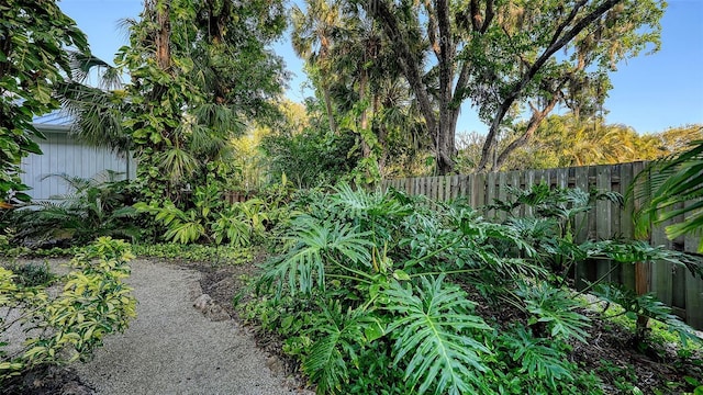
M108 337L92 361L75 366L81 381L98 394L295 394L234 320L213 321L193 307L199 279L194 271L133 261L137 318L123 335Z

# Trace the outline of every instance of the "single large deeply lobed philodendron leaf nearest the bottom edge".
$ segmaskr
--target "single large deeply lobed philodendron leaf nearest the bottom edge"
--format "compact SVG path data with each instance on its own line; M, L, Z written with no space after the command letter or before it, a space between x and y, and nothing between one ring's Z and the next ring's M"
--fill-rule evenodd
M386 291L386 308L395 313L388 327L395 338L394 363L406 361L405 380L420 384L419 394L471 393L487 370L481 356L490 353L472 336L491 328L470 314L473 303L460 287L445 284L443 275L421 280L415 291L398 282Z

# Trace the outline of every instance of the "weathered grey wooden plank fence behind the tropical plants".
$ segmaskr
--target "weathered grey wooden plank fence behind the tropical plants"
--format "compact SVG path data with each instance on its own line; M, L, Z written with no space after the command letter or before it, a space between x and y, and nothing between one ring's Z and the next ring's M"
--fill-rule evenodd
M506 187L526 189L542 182L553 188L579 188L583 191L598 189L601 192L612 191L624 195L645 166L646 162L639 161L548 170L406 178L384 180L381 188L387 190L392 187L411 195L425 195L437 201L462 198L472 207L479 208L495 200L505 201L509 198ZM521 215L532 214L529 207L522 206L518 210ZM492 212L484 214L489 217L494 215ZM634 238L632 205L620 207L611 202L599 201L594 210L580 214L576 222L585 222L576 235L577 242L585 239ZM652 228L648 241L652 246L663 245L669 249L689 252L694 252L699 245L699 238L693 236L667 239L663 226ZM582 280L594 281L605 275L613 269L612 264L617 263L595 260L577 266L573 273L577 286L582 286ZM639 275L636 275L636 272ZM694 278L688 270L667 262L621 264L606 275L605 280L620 282L632 290L654 292L689 325L703 329L703 280Z

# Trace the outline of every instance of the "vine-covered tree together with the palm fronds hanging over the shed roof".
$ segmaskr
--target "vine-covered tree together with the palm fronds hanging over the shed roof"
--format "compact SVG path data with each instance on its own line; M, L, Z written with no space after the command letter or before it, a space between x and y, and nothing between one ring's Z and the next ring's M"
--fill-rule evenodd
M140 177L174 201L189 183L209 176L223 181L231 138L244 133L246 121L275 112L271 98L283 71L266 45L282 31L277 4L245 5L266 9L261 19L231 0L145 1L141 19L124 22L130 45L118 54L120 68L74 54L62 89L74 132L89 144L133 151ZM194 15L193 23L177 23L183 14ZM132 80L123 90L124 70ZM96 76L100 83L89 87Z

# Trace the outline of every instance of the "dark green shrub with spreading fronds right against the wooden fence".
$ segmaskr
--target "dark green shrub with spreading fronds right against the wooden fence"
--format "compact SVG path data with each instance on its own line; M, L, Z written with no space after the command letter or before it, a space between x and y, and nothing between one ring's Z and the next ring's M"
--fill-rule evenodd
M638 328L633 339L637 348L644 348L643 341L647 319L667 323L667 327L678 334L683 341L695 337L693 330L681 320L669 314L667 307L656 301L652 295L637 296L632 290L617 284L610 284L605 279L622 264L638 262L669 262L689 270L691 274L703 278L703 263L694 256L668 250L663 246L652 247L639 240L589 240L578 237L587 221L581 215L590 211L599 200L623 204L624 199L614 192L590 191L579 189L550 189L546 184L534 185L527 190L511 190L513 199L496 202L493 208L506 213L505 223L518 229L525 240L540 251L536 258L540 264L548 264L553 271L551 281L563 285L576 264L583 264L595 259L612 262L611 269L594 282L577 284L581 293L591 292L611 303L621 304L629 312L628 318L637 319ZM515 208L525 205L532 208L533 216L516 217ZM577 242L577 238L583 239Z

